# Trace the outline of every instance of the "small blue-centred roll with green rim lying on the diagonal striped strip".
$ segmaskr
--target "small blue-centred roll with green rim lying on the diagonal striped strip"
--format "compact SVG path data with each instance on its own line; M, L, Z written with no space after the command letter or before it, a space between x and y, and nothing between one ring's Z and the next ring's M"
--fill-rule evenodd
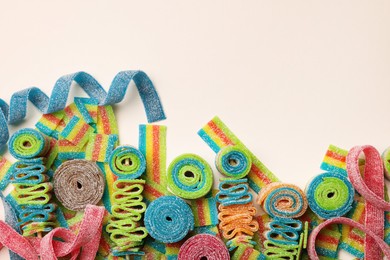
M223 175L241 179L251 170L252 158L240 146L226 146L218 152L215 158L215 166Z

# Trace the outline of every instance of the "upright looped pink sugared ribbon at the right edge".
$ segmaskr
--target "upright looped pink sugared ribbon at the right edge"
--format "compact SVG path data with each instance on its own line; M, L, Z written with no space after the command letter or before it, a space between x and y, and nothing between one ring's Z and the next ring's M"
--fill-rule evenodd
M359 169L359 156L365 155L364 179ZM365 225L379 237L384 237L384 212L390 203L384 200L383 163L379 152L370 145L355 146L347 156L347 171L355 189L366 199ZM382 207L385 205L386 207ZM366 236L364 251L367 259L379 259L381 253L375 239Z

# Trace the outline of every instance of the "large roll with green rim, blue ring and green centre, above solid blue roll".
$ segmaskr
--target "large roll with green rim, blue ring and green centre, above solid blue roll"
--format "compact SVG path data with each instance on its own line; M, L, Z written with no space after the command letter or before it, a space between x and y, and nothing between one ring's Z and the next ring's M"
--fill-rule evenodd
M213 185L210 165L196 154L176 157L168 167L168 188L184 199L198 199L206 195Z

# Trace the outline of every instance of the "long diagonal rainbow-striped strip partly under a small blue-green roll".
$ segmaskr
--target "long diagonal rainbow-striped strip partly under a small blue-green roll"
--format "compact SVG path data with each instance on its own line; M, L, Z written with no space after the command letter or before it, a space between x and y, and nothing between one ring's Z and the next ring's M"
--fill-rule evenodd
M252 167L247 176L249 186L258 193L261 188L267 184L279 181L278 178L268 170L260 160L251 153L248 148L229 130L229 128L219 119L214 117L208 122L198 135L210 146L210 148L218 153L221 148L229 145L239 145L243 148L252 158Z

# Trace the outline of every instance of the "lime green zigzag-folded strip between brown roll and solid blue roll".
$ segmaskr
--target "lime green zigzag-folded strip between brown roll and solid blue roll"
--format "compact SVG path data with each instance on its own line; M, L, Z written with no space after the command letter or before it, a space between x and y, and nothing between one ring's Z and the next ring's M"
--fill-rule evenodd
M114 183L112 216L106 227L111 240L116 244L114 255L123 255L125 251L139 251L142 240L148 234L146 228L137 223L146 210L141 195L144 184L144 180L118 180Z

